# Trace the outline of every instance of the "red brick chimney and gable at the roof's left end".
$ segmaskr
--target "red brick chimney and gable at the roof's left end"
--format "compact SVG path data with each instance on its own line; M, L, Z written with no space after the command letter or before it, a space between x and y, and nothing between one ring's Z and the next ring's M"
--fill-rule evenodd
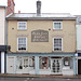
M8 0L8 6L6 6L6 15L14 13L14 0Z

